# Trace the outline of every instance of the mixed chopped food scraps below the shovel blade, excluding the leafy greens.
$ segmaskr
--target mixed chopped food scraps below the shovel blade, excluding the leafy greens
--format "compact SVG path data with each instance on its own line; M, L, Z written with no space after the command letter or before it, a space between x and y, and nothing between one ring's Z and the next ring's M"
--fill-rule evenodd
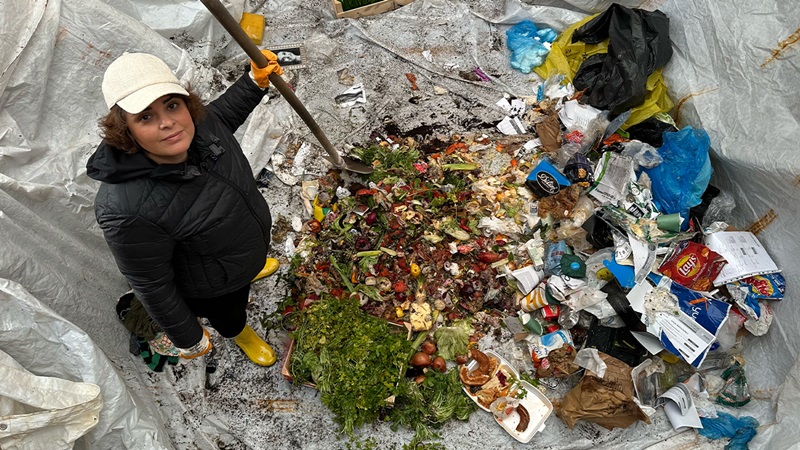
M415 332L486 307L513 309L516 289L497 276L530 261L530 246L517 242L542 226L520 189L529 167L500 158L513 147L485 136L376 145L360 152L375 167L369 179L318 180L309 188L314 218L296 244L298 306L355 297ZM484 152L507 167L482 177Z

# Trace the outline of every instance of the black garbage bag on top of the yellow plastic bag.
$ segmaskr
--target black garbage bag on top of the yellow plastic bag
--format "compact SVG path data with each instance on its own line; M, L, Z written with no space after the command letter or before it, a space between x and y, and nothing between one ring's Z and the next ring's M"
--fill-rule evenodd
M616 115L644 101L647 77L672 57L669 18L658 10L614 4L575 30L572 42L598 44L606 38L608 53L586 59L573 85L587 89L590 105Z

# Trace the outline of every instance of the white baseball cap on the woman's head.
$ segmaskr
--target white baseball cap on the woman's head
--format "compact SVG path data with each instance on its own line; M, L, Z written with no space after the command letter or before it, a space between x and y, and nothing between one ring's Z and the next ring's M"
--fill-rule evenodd
M106 69L102 87L108 109L119 105L130 114L142 112L163 95L189 95L167 64L147 53L123 53Z

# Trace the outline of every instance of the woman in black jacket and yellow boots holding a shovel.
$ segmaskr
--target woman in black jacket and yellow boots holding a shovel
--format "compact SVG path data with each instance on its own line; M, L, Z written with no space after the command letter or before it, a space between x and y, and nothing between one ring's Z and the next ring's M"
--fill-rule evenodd
M256 364L273 349L247 325L250 282L277 269L267 259L272 220L233 133L266 95L277 57L251 63L204 108L153 55L125 53L103 76L109 112L88 175L102 184L97 222L120 272L184 358L211 350L197 317ZM267 261L265 265L264 261Z

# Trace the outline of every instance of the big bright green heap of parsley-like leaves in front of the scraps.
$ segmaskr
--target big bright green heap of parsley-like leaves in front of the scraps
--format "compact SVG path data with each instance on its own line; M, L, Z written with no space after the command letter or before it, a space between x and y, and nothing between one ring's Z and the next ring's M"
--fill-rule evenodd
M355 299L325 297L301 311L291 358L295 382L312 382L348 435L377 420L402 378L411 343Z

